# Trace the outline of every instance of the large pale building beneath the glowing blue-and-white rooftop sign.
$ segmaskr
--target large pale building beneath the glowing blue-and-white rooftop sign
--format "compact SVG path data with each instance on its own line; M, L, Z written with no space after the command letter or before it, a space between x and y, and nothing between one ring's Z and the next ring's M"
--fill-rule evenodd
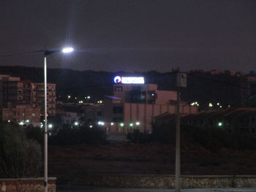
M156 84L118 83L113 86L113 96L106 96L102 122L110 134L127 134L135 128L151 133L155 116L176 112L176 98L176 91L158 90ZM180 108L181 115L197 112L197 107L183 101Z

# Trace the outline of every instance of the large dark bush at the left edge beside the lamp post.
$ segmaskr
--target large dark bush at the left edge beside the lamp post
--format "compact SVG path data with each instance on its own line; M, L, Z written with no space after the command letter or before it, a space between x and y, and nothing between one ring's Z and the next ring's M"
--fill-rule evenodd
M0 177L35 177L42 163L40 145L27 139L24 128L0 124Z

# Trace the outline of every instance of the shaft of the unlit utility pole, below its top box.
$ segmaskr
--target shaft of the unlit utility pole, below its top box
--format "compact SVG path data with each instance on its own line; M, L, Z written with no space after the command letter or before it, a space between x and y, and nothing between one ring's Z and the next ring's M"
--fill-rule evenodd
M181 128L180 128L180 100L181 93L177 89L177 107L176 107L176 162L175 162L175 189L181 191Z

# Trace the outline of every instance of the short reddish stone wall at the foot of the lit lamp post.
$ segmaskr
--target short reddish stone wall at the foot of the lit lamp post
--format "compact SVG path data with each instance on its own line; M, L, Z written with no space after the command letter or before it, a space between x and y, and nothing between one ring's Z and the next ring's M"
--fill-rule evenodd
M42 192L44 191L44 179L24 178L24 179L0 179L1 192ZM48 191L56 192L56 177L48 178Z

